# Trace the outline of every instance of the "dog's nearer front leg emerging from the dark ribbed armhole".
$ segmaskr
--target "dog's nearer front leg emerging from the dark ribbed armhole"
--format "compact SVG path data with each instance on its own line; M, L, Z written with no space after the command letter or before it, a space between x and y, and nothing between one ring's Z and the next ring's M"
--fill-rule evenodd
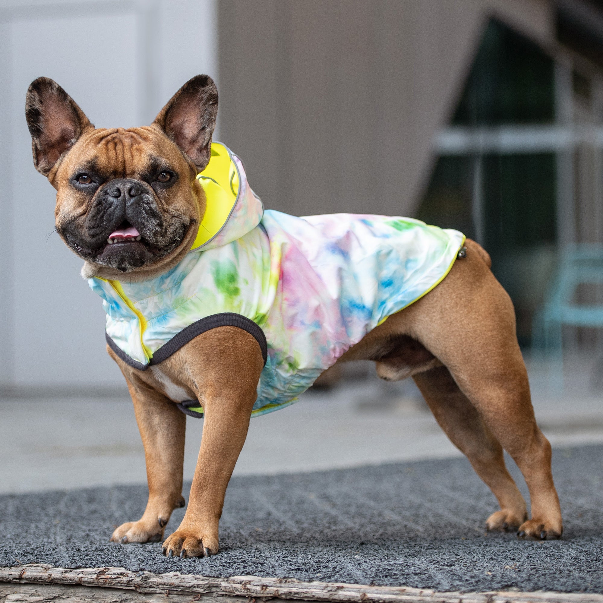
M247 437L264 362L257 341L237 327L203 333L178 355L188 358L205 418L186 514L162 551L168 557L209 557L218 552L224 494Z

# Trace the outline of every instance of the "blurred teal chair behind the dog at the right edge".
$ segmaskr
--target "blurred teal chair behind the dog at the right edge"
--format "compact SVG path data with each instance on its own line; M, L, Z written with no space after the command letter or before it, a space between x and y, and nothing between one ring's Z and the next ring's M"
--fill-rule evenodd
M575 303L582 284L603 283L603 245L567 245L549 282L545 301L532 321L532 345L544 347L549 386L563 393L563 326L603 327L603 304Z

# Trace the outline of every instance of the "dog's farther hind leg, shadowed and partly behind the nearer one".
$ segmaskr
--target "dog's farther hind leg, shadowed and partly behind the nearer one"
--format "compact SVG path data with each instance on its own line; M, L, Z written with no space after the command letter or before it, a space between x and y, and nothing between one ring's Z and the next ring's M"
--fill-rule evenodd
M459 390L446 367L432 368L413 378L441 428L467 456L500 504L500 511L488 517L486 527L516 531L527 519L526 503L505 467L499 441L485 426L475 406Z

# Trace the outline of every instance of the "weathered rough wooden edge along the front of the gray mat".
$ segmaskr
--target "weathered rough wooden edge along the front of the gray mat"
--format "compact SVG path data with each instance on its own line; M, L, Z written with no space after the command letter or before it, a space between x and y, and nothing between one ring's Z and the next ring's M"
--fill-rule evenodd
M459 593L403 586L366 586L336 582L301 582L291 578L233 576L210 578L178 572L129 572L121 567L67 569L45 564L0 567L0 582L80 584L139 593L191 593L246 596L260 599L374 603L603 603L603 595L514 591Z

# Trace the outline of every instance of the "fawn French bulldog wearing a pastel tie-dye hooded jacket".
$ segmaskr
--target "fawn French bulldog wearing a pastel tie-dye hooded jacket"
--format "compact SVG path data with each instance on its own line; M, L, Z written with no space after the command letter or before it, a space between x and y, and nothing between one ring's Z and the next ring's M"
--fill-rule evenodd
M107 351L145 447L147 508L112 540L160 541L185 504L189 414L204 417L203 439L185 517L162 550L216 554L250 417L357 359L415 380L500 504L488 529L559 538L551 446L488 254L410 218L264 211L241 160L212 143L217 110L207 75L128 130L95 128L48 78L27 92L34 165L57 190L57 232L103 298ZM503 450L526 479L531 519Z

